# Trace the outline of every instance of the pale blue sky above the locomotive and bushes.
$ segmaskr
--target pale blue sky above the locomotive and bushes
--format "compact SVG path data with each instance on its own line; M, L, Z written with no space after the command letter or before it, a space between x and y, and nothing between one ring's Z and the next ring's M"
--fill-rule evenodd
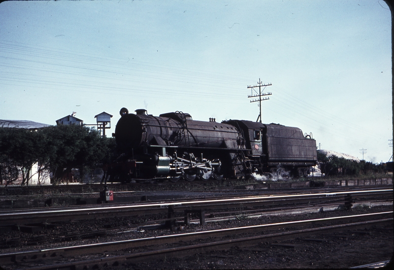
M249 85L272 86L263 123L321 149L392 155L391 12L383 0L0 3L0 119L147 109L256 121Z

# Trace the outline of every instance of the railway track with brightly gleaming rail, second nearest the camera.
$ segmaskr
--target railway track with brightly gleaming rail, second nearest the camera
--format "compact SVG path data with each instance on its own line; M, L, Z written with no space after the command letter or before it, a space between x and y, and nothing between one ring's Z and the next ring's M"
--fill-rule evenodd
M226 209L259 210L287 205L322 206L322 204L343 204L350 208L353 203L363 201L392 202L393 189L356 190L310 194L285 194L262 196L239 196L236 198L216 197L203 200L173 200L170 202L138 203L127 205L98 205L86 207L45 208L36 210L5 210L0 212L2 226L15 224L34 224L58 222L62 220L81 220L113 216L138 216L147 214L165 214L171 212L186 213Z

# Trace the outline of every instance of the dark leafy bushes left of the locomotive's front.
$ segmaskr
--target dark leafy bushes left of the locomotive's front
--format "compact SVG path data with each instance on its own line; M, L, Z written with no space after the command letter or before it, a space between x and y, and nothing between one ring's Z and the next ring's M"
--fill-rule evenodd
M31 131L0 128L0 180L12 183L22 174L28 184L33 164L38 173L50 171L51 182L67 179L73 168L83 177L85 169L101 167L110 160L114 139L101 137L95 129L78 125L49 126Z

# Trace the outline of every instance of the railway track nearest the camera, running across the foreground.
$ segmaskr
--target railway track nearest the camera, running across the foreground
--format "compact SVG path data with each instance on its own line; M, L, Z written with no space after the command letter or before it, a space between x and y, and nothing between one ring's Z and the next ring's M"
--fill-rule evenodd
M9 266L8 269L101 269L165 256L181 257L210 249L226 249L233 245L248 246L262 241L344 233L349 229L383 225L393 226L393 211L14 252L0 255L0 264ZM119 254L120 250L124 252ZM83 254L97 255L83 260ZM69 262L70 259L73 261Z

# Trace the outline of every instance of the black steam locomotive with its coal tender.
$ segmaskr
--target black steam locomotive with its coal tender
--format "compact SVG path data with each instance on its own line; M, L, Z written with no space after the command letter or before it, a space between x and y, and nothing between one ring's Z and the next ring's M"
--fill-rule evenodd
M196 121L178 111L159 117L144 109L135 112L120 111L110 181L221 180L283 171L306 176L317 162L316 141L296 127L247 120Z

